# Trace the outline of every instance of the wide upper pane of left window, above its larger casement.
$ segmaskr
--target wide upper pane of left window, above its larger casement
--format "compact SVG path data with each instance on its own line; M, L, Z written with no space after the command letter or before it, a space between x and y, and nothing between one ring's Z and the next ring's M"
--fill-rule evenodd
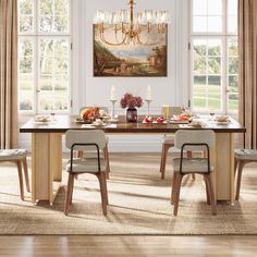
M69 0L39 1L39 30L41 33L68 33L69 20Z

